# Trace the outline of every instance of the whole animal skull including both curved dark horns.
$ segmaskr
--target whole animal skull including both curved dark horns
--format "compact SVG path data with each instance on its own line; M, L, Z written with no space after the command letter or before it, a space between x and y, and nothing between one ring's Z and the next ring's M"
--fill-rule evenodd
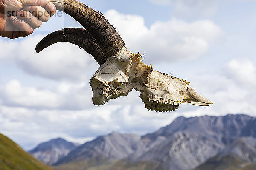
M133 89L141 92L140 98L145 107L152 111L175 111L181 103L200 106L212 104L196 93L189 82L162 74L155 71L152 65L141 62L141 55L125 48L122 38L99 12L74 0L56 0L53 3L58 10L70 14L87 30L66 28L56 31L39 42L36 51L65 41L79 45L92 54L101 65L90 79L94 105L103 105L110 99L126 96ZM73 12L74 8L80 15L85 15L81 17L83 20ZM88 21L94 22L88 25Z

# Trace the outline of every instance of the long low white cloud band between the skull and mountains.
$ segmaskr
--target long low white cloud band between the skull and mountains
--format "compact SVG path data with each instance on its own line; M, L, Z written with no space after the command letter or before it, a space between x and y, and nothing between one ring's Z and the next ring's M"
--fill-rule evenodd
M176 115L149 112L143 105L104 105L79 111L0 106L0 113L1 133L25 149L57 137L82 143L112 131L145 134L169 124Z

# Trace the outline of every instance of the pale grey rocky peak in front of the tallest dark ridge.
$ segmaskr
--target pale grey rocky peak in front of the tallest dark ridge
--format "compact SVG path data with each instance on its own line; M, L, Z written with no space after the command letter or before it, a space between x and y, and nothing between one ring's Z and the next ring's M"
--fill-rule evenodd
M179 132L137 160L154 162L166 170L189 170L204 163L223 148L223 144L205 136Z

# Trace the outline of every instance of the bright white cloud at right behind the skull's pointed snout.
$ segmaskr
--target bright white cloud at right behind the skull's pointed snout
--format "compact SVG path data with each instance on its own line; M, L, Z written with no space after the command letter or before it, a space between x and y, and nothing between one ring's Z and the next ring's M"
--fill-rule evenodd
M195 90L210 99L213 105L196 107L183 105L180 113L183 115L202 116L225 115L227 113L244 113L256 115L256 70L255 63L249 59L232 59L219 72L203 72L190 77Z

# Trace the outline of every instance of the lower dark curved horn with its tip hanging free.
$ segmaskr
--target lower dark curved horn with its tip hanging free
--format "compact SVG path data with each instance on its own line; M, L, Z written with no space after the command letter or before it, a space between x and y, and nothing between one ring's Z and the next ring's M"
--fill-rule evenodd
M83 28L64 28L48 34L38 43L35 51L39 53L44 50L44 48L57 42L70 42L78 45L87 53L91 54L99 65L102 65L107 60L95 38Z

